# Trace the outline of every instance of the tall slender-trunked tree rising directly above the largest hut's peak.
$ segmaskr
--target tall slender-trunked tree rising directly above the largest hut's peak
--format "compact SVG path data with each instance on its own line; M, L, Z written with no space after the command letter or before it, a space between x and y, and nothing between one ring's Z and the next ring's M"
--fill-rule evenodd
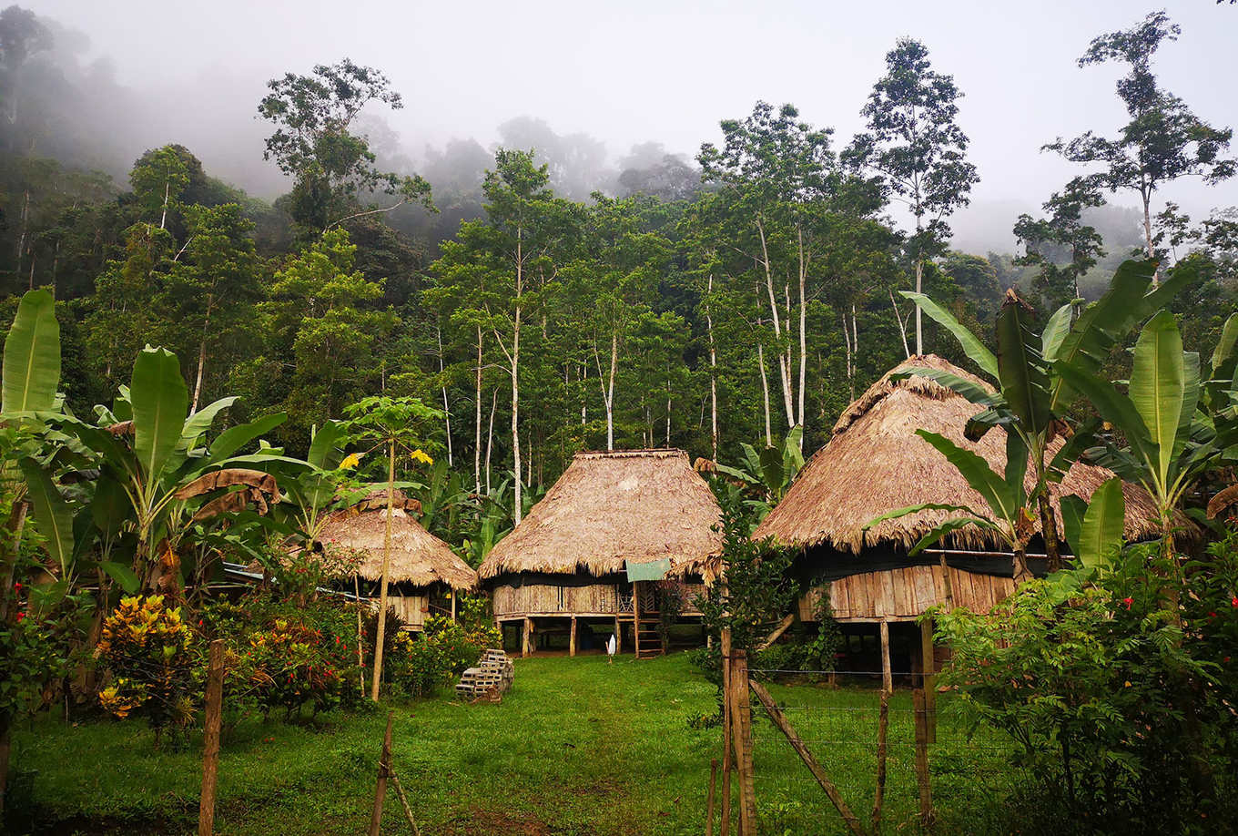
M910 249L919 294L925 259L941 254L950 240L946 218L969 203L968 193L979 177L964 156L968 140L956 121L963 94L954 77L933 71L928 50L911 38L900 38L885 64L886 74L860 110L868 131L855 136L847 157L875 171L915 218ZM916 354L924 354L919 307Z

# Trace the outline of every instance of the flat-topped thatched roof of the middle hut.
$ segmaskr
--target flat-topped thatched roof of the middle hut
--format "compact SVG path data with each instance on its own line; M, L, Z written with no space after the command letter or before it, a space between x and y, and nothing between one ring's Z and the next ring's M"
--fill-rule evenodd
M669 575L712 582L722 510L681 450L577 453L558 482L478 570L609 575L670 559Z

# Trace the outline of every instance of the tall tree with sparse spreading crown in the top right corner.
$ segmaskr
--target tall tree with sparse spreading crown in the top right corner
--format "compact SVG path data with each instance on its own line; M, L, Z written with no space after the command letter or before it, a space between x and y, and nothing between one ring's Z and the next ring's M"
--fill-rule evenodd
M1165 41L1181 33L1164 11L1154 11L1141 24L1092 41L1078 59L1080 67L1117 61L1129 67L1118 79L1118 98L1130 116L1115 139L1087 131L1070 141L1057 137L1045 150L1057 151L1071 162L1099 163L1092 183L1110 191L1133 191L1143 203L1144 244L1148 258L1156 258L1153 227L1153 196L1165 183L1180 177L1201 177L1218 183L1234 175L1234 160L1222 156L1233 130L1213 128L1186 107L1182 99L1158 83L1151 61Z

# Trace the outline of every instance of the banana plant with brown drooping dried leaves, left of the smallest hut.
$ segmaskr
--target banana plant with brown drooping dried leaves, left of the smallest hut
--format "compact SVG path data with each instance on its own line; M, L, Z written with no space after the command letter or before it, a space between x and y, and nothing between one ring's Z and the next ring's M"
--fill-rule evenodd
M36 519L46 519L47 549L59 556L82 554L95 540L104 554L123 549L132 531L132 568L156 590L180 567L177 546L187 528L202 519L236 510L255 500L279 500L272 473L296 473L307 466L284 456L238 456L245 445L279 426L282 415L230 427L209 445L202 438L214 419L235 399L227 398L186 417L188 389L176 355L146 348L134 363L131 386L111 409L95 410L90 424L64 412L33 412L51 452L22 459L35 497ZM82 524L64 525L68 507L57 474L73 477L98 471L94 497L83 503ZM62 479L63 482L63 479ZM244 495L224 499L225 494ZM99 500L102 497L102 500ZM108 568L125 586L131 580Z

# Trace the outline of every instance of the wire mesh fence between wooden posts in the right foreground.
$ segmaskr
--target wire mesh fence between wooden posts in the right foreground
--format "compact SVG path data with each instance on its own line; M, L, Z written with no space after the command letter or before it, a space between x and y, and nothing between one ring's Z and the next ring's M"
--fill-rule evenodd
M779 685L787 671L751 670L756 679L774 676L771 696L786 722L837 786L838 795L872 832L878 785L880 692L834 690L808 684ZM855 671L795 671L823 680L831 674ZM910 675L910 674L904 674ZM899 674L895 674L899 676ZM919 827L921 780L916 769L916 712L910 690L896 690L886 712L885 782L881 805L884 832L915 832ZM932 734L927 743L928 790L936 817L951 820L961 832L968 822L995 815L1011 793L1028 785L1028 775L1014 765L1014 742L990 728L973 729L954 712L925 717ZM753 772L761 832L848 832L821 785L779 731L769 711L754 697ZM956 830L951 827L951 830Z

